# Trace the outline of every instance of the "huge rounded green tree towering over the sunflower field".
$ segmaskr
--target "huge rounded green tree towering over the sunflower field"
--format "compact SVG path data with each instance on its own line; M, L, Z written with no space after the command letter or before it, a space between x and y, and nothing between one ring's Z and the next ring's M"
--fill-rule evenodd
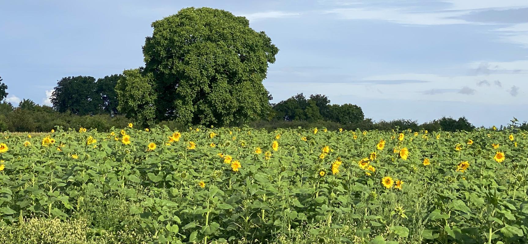
M278 48L264 32L252 30L247 18L190 7L152 27L153 35L143 46L142 75L153 77L157 120L228 125L258 120L270 112L262 80ZM140 99L123 90L118 97ZM128 116L137 113L127 110Z

